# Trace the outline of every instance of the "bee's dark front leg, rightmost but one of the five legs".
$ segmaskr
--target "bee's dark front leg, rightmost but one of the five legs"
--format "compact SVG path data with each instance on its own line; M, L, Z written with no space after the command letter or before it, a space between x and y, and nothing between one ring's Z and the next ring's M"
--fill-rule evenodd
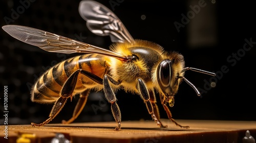
M158 126L163 127L163 125L158 120L157 116L154 113L154 108L152 106L152 103L150 101L150 93L148 92L148 89L146 87L145 82L142 79L137 79L136 88L140 94L141 99L146 104L146 108L148 110L148 113L151 114L153 120L157 123Z

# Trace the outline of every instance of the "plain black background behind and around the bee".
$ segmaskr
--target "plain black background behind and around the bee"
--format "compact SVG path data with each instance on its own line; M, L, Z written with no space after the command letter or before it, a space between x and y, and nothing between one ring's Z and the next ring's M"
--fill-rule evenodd
M2 1L1 26L23 25L66 36L108 49L110 37L91 33L78 13L80 1ZM186 71L185 77L202 92L198 97L183 82L170 108L175 119L256 121L255 59L256 44L243 50L245 39L256 41L255 7L246 1L98 1L121 19L135 39L154 41L166 51L178 51L186 66L219 73L218 77ZM196 13L189 6L204 4ZM115 5L116 3L117 5ZM112 4L112 5L111 5ZM22 8L23 7L23 8ZM13 11L18 15L13 16ZM192 14L183 21L179 32L174 23L182 24L182 14ZM145 15L145 19L141 19ZM9 19L9 20L7 20ZM184 20L184 19L183 19ZM185 23L186 22L186 23ZM45 52L20 42L0 30L0 110L4 111L4 86L8 86L8 123L41 123L48 118L52 105L32 103L30 88L50 66L77 54ZM247 45L247 47L249 47ZM232 57L238 54L237 58ZM231 57L230 57L231 56ZM229 58L229 60L228 60ZM226 67L228 71L222 71ZM216 80L217 79L217 80ZM215 82L216 87L208 83ZM117 93L122 121L151 120L139 96ZM77 98L66 106L51 123L68 120ZM158 99L159 100L159 99ZM162 118L167 118L158 101ZM102 93L91 93L88 103L75 122L113 121L110 105ZM3 125L3 120L0 120Z

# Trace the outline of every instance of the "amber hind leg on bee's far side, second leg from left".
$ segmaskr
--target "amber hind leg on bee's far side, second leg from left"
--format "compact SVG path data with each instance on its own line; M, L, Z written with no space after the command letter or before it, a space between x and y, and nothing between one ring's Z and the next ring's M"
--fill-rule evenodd
M77 118L77 116L81 113L82 109L86 105L89 93L90 93L90 89L87 89L80 93L80 98L74 109L73 116L68 121L62 120L62 124L70 124Z

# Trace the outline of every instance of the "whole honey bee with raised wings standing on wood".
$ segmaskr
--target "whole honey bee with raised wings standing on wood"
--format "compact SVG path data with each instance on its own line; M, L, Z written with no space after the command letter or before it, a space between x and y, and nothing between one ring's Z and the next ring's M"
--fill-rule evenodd
M62 61L40 76L32 87L31 100L37 103L54 103L49 118L32 126L48 124L60 112L67 100L79 94L73 116L64 124L72 123L86 105L90 90L103 90L106 100L117 123L115 130L121 129L121 112L117 104L116 92L138 94L160 127L161 123L156 94L169 120L181 128L172 117L167 105L174 106L174 96L179 84L184 80L200 96L199 90L185 77L186 70L215 76L209 71L185 67L184 58L177 52L165 52L157 43L133 39L120 19L108 8L94 1L81 1L79 13L87 21L88 29L99 35L111 37L110 50L88 43L59 36L46 31L7 25L3 29L12 37L25 43L40 47L42 50L56 53L85 53Z

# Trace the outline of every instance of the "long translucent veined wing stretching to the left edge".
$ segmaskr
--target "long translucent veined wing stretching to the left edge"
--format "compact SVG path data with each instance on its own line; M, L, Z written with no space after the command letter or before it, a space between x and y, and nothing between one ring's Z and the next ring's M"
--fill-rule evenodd
M97 53L125 59L125 56L110 50L59 36L50 32L17 25L2 27L12 37L25 43L40 47L42 50L55 53Z

